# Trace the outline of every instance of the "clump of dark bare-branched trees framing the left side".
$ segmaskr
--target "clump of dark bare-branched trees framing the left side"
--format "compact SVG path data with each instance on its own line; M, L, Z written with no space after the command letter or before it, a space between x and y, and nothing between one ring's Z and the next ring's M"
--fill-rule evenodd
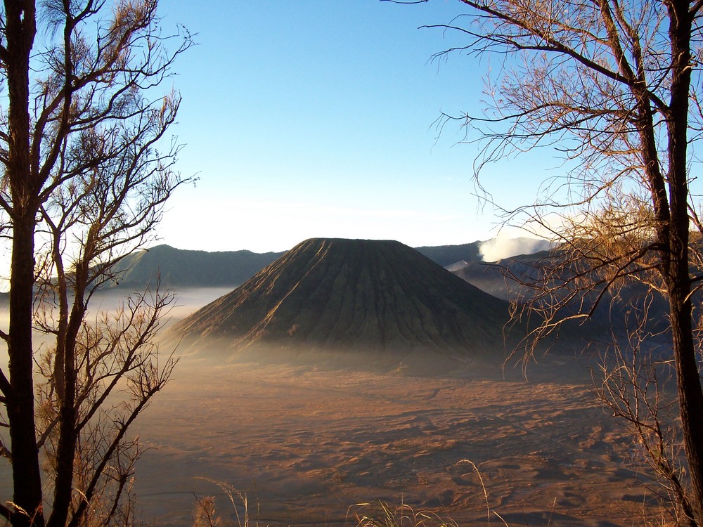
M13 526L128 524L138 445L127 429L174 365L153 345L167 295L86 318L112 266L150 240L186 181L165 137L180 98L155 89L191 37L162 34L156 10L156 0L5 0L0 12L0 217L11 243L0 450L13 472L0 514ZM46 334L41 350L33 328ZM108 404L117 391L124 403ZM53 489L48 517L43 488Z

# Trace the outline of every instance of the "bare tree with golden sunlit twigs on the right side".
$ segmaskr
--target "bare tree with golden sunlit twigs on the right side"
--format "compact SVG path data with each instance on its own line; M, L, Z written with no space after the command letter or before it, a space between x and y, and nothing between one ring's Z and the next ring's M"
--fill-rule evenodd
M401 3L421 1L427 0ZM444 115L440 128L457 120L466 141L482 145L477 177L486 162L538 147L557 148L570 168L545 183L545 199L507 213L512 221L536 222L561 242L560 254L544 262L540 278L527 284L533 292L517 308L538 315L534 342L565 320L587 318L632 282L664 295L688 464L684 514L700 525L703 391L692 297L702 277L700 237L691 228L703 233L692 187L703 130L703 2L460 4L464 13L432 27L458 32L465 45L435 58L491 54L502 62L487 82L486 112ZM643 393L638 386L636 398ZM606 394L630 397L617 393L617 383L611 388Z

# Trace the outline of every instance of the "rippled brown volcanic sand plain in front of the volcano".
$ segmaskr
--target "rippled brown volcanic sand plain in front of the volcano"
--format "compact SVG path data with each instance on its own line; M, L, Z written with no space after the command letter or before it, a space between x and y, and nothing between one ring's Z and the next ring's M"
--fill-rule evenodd
M196 493L217 495L230 521L200 476L245 492L264 525L335 525L377 498L482 525L471 460L510 526L642 524L643 488L621 464L633 448L568 363L533 365L525 382L479 365L419 378L184 359L138 424L151 448L137 467L142 518L188 525Z

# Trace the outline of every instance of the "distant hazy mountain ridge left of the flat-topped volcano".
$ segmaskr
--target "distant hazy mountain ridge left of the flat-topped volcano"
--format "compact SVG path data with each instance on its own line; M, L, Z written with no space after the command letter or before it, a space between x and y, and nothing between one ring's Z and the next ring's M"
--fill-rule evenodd
M283 252L251 251L205 252L157 245L120 261L117 283L143 289L160 273L167 287L236 286L276 260Z

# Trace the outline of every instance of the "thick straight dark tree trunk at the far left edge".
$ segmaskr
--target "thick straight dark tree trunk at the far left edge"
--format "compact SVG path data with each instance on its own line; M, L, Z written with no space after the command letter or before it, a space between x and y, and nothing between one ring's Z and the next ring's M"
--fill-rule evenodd
M5 1L8 84L8 167L12 197L13 245L10 278L10 425L13 526L43 526L41 474L34 431L32 297L34 287L35 183L30 165L29 74L36 25L34 1ZM21 509L21 511L20 511ZM23 511L23 512L22 512Z

